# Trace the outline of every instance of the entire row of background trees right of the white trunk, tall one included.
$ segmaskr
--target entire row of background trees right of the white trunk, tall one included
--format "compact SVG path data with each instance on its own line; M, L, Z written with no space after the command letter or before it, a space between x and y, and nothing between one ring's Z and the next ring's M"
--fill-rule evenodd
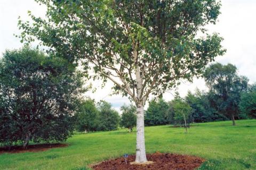
M172 101L153 99L145 114L145 124L163 125L212 122L256 117L256 84L237 74L236 66L210 65L204 79L209 91L197 89L186 97L175 95ZM186 119L183 117L185 116ZM182 119L183 118L183 119Z

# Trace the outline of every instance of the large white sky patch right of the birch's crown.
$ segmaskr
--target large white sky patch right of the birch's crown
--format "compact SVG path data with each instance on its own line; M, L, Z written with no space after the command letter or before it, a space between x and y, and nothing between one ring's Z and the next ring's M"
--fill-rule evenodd
M224 0L221 15L211 31L219 32L224 38L223 46L227 49L225 56L217 61L223 64L235 64L239 74L245 75L250 82L256 81L256 1Z

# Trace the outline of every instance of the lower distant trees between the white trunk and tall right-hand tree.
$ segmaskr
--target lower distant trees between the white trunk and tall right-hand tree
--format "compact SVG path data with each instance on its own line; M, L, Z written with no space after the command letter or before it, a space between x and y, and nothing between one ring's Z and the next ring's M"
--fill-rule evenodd
M153 99L149 102L149 107L145 114L145 124L147 126L166 124L183 126L185 125L184 115L188 125L192 122L228 120L226 116L219 114L211 107L207 97L205 92L197 89L194 94L189 91L185 98L181 98L177 94L169 102L162 98Z

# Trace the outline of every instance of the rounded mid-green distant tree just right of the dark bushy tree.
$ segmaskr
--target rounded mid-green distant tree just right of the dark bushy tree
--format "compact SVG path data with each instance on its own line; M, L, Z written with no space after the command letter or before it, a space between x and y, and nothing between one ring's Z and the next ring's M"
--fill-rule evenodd
M77 113L77 130L80 132L90 132L97 129L98 109L95 106L94 100L82 100L79 111Z

